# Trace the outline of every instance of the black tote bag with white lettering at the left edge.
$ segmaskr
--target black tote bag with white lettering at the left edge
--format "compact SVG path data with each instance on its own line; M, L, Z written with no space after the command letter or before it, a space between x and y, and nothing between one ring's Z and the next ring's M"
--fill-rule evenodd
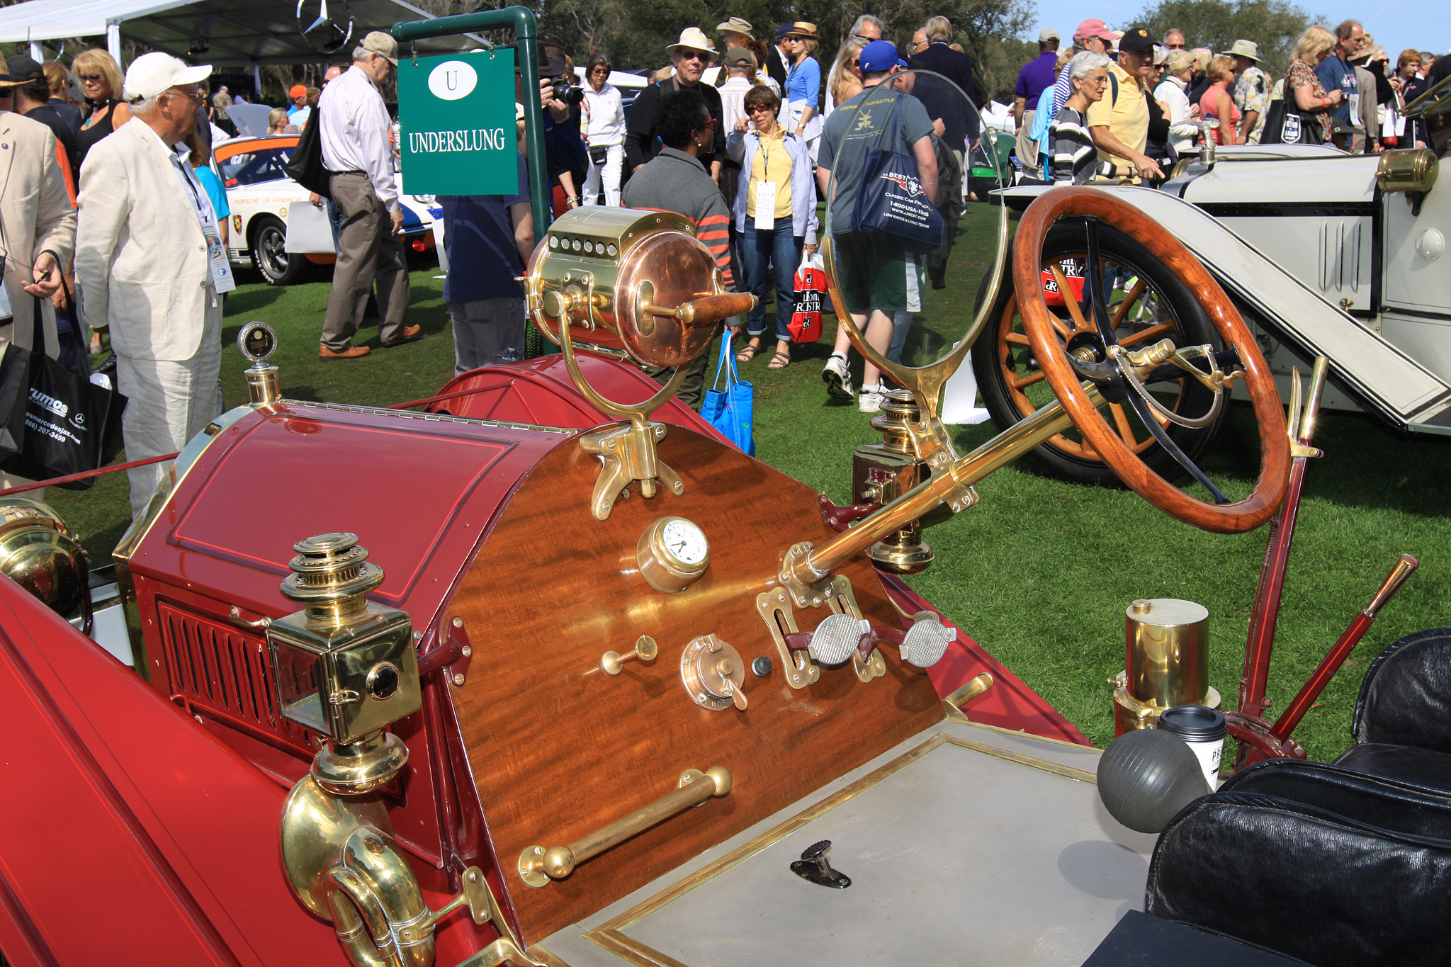
M70 336L80 344L78 328L73 328ZM36 300L32 345L44 346L42 339L41 306ZM84 354L86 346L78 345L77 352ZM6 358L12 355L19 355L13 345L6 351ZM15 409L22 415L22 447L20 452L0 467L32 480L49 480L97 470L110 462L120 448L120 416L126 409L126 397L73 373L45 355L44 349L36 348L26 355L23 404L12 406L9 415L13 419ZM0 361L0 390L6 389L3 370L4 361ZM67 490L89 490L96 486L96 478L59 486Z

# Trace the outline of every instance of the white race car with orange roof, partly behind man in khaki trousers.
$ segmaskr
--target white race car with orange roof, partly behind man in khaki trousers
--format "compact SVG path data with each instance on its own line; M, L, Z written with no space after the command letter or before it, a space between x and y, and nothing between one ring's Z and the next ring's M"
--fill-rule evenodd
M228 249L234 262L250 264L273 286L296 281L309 264L328 265L337 258L326 217L322 231L297 236L289 245L289 212L308 206L309 193L283 170L297 135L263 135L218 142L212 155L226 186L232 209ZM402 181L399 181L402 186ZM434 246L432 223L438 209L432 196L403 194L405 244L416 252Z

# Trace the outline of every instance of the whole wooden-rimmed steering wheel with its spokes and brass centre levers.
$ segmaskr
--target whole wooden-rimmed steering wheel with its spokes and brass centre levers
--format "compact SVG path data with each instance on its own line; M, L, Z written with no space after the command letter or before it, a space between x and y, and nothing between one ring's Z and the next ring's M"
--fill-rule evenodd
M1084 274L1084 304L1068 297L1068 310L1077 316L1088 316L1090 332L1080 333L1065 342L1066 326L1056 320L1043 300L1043 239L1055 222L1065 217L1082 217L1087 223L1088 258ZM1110 323L1107 296L1104 293L1103 261L1098 257L1098 222L1104 222L1136 238L1148 246L1165 267L1177 274L1197 294L1210 322L1229 346L1228 354L1217 358L1201 354L1197 348L1174 346L1168 341L1154 346L1129 351L1119 345ZM1017 289L1023 331L1037 358L1053 394L1072 416L1084 439L1093 445L1106 464L1155 507L1203 531L1217 534L1239 534L1258 528L1268 520L1284 500L1290 476L1290 438L1286 432L1284 410L1280 393L1259 345L1249 333L1239 312L1229 302L1225 290L1197 258L1158 222L1109 191L1097 188L1053 188L1039 196L1023 213L1017 228L1017 242L1013 260L1013 284ZM1066 286L1059 280L1065 294ZM1056 323L1056 325L1055 325ZM1210 370L1201 370L1191 357L1210 361ZM1164 432L1164 422L1175 416L1164 409L1146 391L1145 386L1161 374L1165 364L1188 371L1216 391L1214 409L1225 403L1233 374L1226 377L1220 364L1230 362L1242 371L1249 400L1255 409L1259 432L1259 478L1244 500L1230 503L1217 487L1183 454L1177 444ZM1177 373L1183 375L1183 373ZM1164 477L1149 470L1109 425L1103 413L1090 402L1082 381L1091 381L1106 397L1133 406L1145 426L1161 445L1204 486L1213 496L1213 503L1184 493Z

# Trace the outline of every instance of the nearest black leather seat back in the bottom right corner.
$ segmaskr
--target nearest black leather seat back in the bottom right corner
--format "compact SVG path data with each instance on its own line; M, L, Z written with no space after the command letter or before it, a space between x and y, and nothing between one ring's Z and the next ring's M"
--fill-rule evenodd
M1451 963L1451 794L1259 763L1170 821L1145 909L1318 967Z

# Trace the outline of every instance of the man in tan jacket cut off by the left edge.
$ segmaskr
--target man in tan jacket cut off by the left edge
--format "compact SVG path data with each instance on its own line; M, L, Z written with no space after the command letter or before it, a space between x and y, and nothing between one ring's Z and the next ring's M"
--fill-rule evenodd
M75 248L75 209L55 159L55 135L9 109L10 88L23 83L0 74L0 249L6 254L0 351L12 342L35 348L39 304L45 354L54 360L59 346L51 296ZM22 483L29 481L0 473L0 487Z

